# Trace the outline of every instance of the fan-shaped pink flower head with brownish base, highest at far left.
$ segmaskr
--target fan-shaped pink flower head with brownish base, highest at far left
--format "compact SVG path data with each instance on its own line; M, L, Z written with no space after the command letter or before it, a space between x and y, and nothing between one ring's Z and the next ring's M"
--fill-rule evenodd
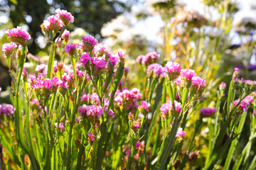
M21 27L7 30L6 34L9 36L11 42L18 43L20 45L26 45L28 40L31 39L31 35L29 35L26 31L21 30Z

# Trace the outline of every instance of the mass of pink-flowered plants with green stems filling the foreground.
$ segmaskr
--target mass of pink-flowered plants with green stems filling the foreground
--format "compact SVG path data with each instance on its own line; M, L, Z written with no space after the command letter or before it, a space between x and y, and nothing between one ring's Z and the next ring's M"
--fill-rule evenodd
M6 32L11 43L3 51L14 102L0 105L0 141L9 169L184 169L199 154L196 135L206 122L209 150L201 168L213 169L225 153L229 168L246 115L256 107L255 81L238 79L235 69L225 107L220 110L222 83L215 105L203 108L207 80L176 62L161 64L160 55L149 52L137 58L146 71L139 89L126 81L124 52L107 51L90 35L79 45L68 43L66 29L74 18L68 11L55 12L41 25L51 49L48 64L38 64L36 74L24 67L30 35L21 28ZM16 70L9 62L14 52ZM237 169L256 136L255 114L250 119L250 140ZM253 160L242 167L253 169Z

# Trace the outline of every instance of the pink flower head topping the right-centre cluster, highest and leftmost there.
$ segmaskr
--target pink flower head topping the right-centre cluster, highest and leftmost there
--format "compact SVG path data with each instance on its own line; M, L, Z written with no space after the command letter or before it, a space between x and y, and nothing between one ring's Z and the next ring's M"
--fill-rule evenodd
M181 74L181 64L176 62L167 62L163 68L163 71L168 79L177 79L177 77Z

